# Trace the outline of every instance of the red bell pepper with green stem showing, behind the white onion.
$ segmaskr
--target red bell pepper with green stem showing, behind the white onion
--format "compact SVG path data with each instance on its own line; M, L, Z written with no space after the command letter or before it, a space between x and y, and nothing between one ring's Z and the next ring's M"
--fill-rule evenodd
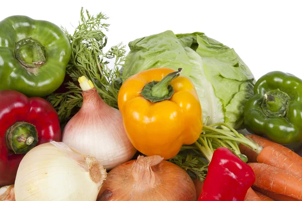
M1 90L0 186L15 182L26 152L50 141L61 141L59 119L50 103L15 90Z

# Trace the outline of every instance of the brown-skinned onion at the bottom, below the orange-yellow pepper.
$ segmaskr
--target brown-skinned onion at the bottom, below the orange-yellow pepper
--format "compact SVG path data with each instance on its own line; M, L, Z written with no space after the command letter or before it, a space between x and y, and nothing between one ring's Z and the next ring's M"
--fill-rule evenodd
M179 166L161 156L138 156L113 168L97 201L196 201L195 186Z

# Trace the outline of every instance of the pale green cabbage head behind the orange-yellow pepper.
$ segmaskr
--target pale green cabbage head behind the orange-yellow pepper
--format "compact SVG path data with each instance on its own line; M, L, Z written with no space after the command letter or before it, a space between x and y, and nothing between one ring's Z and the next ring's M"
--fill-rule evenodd
M150 68L183 68L197 90L207 124L224 122L238 129L255 78L238 54L204 33L166 31L129 42L123 80Z

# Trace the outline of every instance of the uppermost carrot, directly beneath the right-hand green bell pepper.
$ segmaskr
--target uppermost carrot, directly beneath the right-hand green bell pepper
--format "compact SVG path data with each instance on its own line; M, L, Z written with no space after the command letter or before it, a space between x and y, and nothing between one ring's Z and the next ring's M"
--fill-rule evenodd
M296 163L297 165L302 167L302 157L300 157L298 154L296 154L292 150L288 149L287 147L284 147L283 145L277 144L273 141L270 141L270 140L263 138L261 136L258 136L258 135L247 135L246 137L254 140L257 144L259 144L262 147L272 147L275 150L278 150L279 152L284 154L286 157L288 157L289 159L294 161L294 163ZM247 157L249 157L249 156L247 156ZM254 162L256 162L256 161L254 161Z

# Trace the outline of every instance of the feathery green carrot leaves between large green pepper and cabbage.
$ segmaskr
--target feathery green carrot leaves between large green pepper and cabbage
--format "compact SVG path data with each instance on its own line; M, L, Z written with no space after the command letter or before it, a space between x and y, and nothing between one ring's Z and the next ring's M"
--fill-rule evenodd
M85 15L86 14L86 15ZM103 13L92 16L81 9L81 21L73 35L62 28L70 40L71 58L66 67L66 76L70 78L64 85L63 93L52 93L47 100L56 109L63 126L82 106L82 90L78 78L85 75L90 79L100 96L109 106L118 108L117 95L121 85L120 69L125 57L125 46L121 43L103 52L107 44L109 24L104 23L108 17ZM108 64L113 61L114 66Z

